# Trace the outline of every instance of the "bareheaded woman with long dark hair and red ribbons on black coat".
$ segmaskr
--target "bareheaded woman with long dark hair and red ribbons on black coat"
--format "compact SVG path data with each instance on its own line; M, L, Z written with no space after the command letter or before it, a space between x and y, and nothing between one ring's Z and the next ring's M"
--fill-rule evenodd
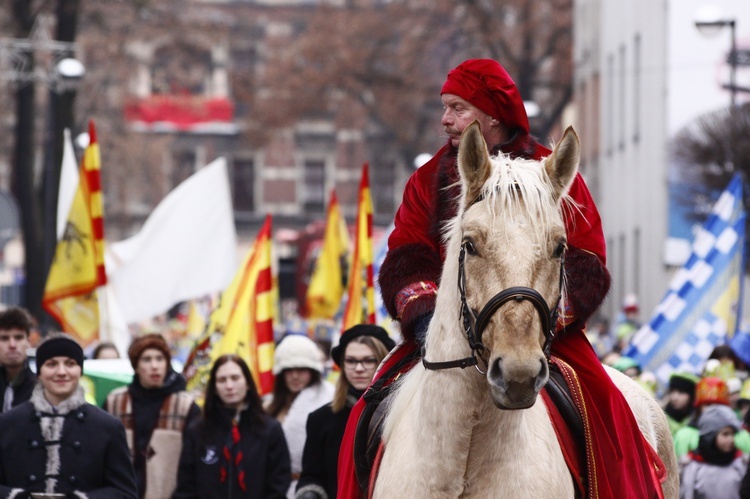
M173 499L283 498L291 470L281 425L263 411L241 357L216 359L203 417L185 430Z

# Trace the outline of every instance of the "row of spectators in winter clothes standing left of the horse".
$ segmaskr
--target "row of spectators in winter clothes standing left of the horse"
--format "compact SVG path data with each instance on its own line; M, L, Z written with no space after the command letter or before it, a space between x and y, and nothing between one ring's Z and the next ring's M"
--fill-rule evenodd
M127 352L132 382L99 408L80 383L78 342L52 333L30 358L32 328L25 310L0 312L0 497L336 497L349 410L395 346L379 326L344 331L330 352L334 386L318 345L286 335L265 399L247 363L224 355L211 367L201 409L172 368L165 339L146 334ZM92 358L119 357L112 350L97 348Z

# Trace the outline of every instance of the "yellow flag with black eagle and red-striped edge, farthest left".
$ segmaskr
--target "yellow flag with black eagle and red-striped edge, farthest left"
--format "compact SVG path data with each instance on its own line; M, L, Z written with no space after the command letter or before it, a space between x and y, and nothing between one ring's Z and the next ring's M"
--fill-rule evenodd
M81 161L78 190L47 275L42 306L62 329L86 347L99 337L96 288L107 283L104 270L104 211L101 156L94 122Z

